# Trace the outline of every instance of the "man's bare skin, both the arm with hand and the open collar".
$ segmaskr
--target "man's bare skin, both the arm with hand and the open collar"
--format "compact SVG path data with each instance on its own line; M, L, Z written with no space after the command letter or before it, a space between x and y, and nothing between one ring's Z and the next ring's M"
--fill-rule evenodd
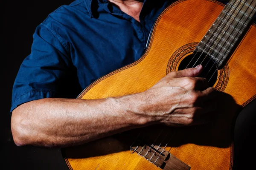
M110 1L139 20L142 1ZM26 102L12 112L14 142L17 146L68 147L152 124L204 124L214 112L216 95L206 79L197 77L202 69L198 65L172 72L138 94Z

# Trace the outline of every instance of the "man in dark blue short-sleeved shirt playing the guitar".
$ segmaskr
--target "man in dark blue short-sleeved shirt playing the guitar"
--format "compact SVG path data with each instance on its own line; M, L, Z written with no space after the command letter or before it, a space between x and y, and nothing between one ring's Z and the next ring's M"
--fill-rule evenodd
M13 88L15 144L67 147L163 123L197 125L214 112L202 66L172 72L139 94L74 99L99 77L139 59L169 0L76 0L37 27ZM204 105L202 104L204 101Z

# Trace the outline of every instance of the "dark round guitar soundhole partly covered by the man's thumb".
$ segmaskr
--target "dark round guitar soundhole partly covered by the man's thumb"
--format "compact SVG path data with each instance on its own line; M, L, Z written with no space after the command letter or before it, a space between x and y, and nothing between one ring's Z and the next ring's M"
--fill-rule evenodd
M178 70L185 68L194 68L197 65L203 65L203 71L198 77L204 77L208 80L209 86L212 87L218 77L217 65L215 61L204 53L193 53L184 58L179 65Z

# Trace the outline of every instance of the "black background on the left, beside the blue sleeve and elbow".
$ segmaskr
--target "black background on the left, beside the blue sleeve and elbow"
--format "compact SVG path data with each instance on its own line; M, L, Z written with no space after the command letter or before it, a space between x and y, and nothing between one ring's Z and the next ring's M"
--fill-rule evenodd
M17 147L12 140L10 115L12 85L23 59L30 54L32 35L48 14L73 0L1 1L1 150L0 169L68 170L58 149ZM5 168L3 168L5 167Z

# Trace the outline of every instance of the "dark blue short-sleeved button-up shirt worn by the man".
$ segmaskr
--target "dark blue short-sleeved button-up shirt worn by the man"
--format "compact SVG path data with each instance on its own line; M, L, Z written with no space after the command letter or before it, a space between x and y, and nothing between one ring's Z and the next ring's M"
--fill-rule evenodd
M144 1L140 23L108 0L76 0L49 14L18 71L11 112L36 99L76 98L96 79L139 59L154 21L170 3Z

